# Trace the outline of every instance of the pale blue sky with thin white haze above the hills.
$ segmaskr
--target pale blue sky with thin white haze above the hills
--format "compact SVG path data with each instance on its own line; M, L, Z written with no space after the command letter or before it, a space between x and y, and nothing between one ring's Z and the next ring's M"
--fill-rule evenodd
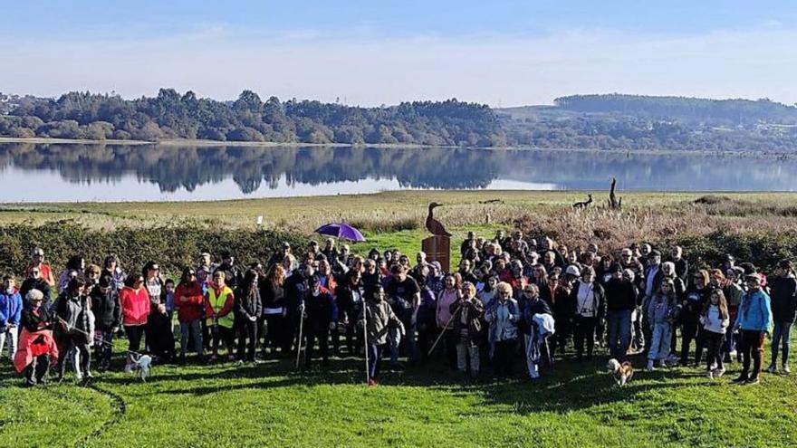
M0 1L0 91L376 106L577 93L797 103L797 2Z

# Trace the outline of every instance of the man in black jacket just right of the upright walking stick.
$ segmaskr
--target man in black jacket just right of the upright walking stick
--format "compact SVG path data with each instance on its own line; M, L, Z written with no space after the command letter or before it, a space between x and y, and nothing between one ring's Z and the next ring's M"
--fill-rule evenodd
M317 341L321 350L322 366L327 367L330 365L330 330L336 328L338 307L331 292L322 286L318 275L312 276L310 284L310 290L304 292L301 306L307 316L304 365L307 368L311 367L313 349Z

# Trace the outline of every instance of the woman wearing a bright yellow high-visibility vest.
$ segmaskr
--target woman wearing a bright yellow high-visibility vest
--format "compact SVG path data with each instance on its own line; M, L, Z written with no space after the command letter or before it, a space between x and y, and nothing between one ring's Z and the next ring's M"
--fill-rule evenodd
M207 300L205 302L205 317L207 328L210 330L212 338L213 355L211 361L218 359L218 346L224 343L227 348L227 359L235 360L233 346L235 343L235 319L233 309L235 305L235 294L225 282L225 273L216 271L213 273L213 280L207 288Z

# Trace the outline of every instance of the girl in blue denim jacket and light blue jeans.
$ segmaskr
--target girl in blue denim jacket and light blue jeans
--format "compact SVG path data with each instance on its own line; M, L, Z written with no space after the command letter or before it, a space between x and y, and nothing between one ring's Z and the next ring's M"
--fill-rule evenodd
M661 281L660 289L648 303L647 312L648 322L653 327L648 351L647 368L650 371L657 360L659 367L667 367L673 322L677 320L675 282L672 279Z

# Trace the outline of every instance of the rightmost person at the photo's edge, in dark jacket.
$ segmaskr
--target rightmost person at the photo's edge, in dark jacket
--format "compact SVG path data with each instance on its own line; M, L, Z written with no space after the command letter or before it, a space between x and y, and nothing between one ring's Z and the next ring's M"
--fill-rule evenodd
M781 365L783 373L790 373L789 348L791 348L792 325L797 318L797 279L794 277L792 262L783 260L778 263L775 276L769 280L770 298L773 311L772 360L766 369L769 373L778 371L777 361L779 346L782 346Z

